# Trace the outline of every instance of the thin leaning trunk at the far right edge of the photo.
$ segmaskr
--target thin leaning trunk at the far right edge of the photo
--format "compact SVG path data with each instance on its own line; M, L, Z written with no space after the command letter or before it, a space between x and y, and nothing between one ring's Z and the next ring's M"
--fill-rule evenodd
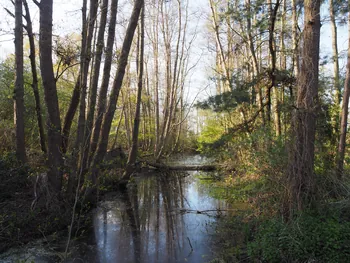
M348 2L350 7L350 2ZM346 132L348 126L349 96L350 96L350 13L348 14L348 59L344 84L343 105L341 111L340 138L338 145L337 175L342 177L344 171L344 156L346 146Z

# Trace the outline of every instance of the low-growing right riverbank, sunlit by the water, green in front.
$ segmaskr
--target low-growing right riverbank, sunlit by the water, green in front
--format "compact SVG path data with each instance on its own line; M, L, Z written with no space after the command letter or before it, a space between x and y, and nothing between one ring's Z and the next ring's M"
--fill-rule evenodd
M317 177L327 196L286 218L283 174L259 174L264 163L260 165L245 173L237 167L235 173L226 172L222 180L210 182L212 196L246 207L219 222L216 238L221 249L213 262L349 262L347 184L335 184L330 175Z

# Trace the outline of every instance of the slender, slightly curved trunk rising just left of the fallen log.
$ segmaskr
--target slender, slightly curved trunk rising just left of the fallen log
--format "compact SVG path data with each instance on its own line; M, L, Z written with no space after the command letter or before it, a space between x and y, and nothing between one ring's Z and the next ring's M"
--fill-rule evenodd
M145 28L144 28L145 14L144 14L144 3L141 10L141 23L140 23L140 34L139 34L139 54L138 57L138 82L137 82L137 101L136 101L136 111L134 119L134 128L132 131L132 145L129 152L128 162L126 164L126 171L123 175L124 181L129 181L130 175L135 165L137 151L138 151L138 136L140 127L140 110L141 110L141 95L143 87L143 56L144 56L144 45L145 45Z

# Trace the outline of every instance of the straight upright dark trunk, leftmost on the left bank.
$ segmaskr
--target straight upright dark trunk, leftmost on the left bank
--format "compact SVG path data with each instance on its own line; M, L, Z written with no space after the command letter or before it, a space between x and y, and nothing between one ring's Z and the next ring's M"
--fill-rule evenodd
M23 79L23 22L22 0L15 0L15 53L16 82L14 90L14 122L16 127L17 160L26 162L26 147L24 136L24 79Z

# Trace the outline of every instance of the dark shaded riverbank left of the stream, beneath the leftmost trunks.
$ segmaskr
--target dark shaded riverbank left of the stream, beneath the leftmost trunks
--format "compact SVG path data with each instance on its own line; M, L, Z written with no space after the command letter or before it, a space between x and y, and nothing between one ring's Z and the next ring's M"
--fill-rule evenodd
M32 207L34 176L29 166L7 156L0 160L0 178L0 253L67 229L70 210Z

